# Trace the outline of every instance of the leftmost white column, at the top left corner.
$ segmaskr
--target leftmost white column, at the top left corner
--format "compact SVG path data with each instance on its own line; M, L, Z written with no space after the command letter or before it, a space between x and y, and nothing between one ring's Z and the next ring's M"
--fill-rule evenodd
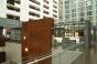
M0 0L0 18L7 18L7 0Z

